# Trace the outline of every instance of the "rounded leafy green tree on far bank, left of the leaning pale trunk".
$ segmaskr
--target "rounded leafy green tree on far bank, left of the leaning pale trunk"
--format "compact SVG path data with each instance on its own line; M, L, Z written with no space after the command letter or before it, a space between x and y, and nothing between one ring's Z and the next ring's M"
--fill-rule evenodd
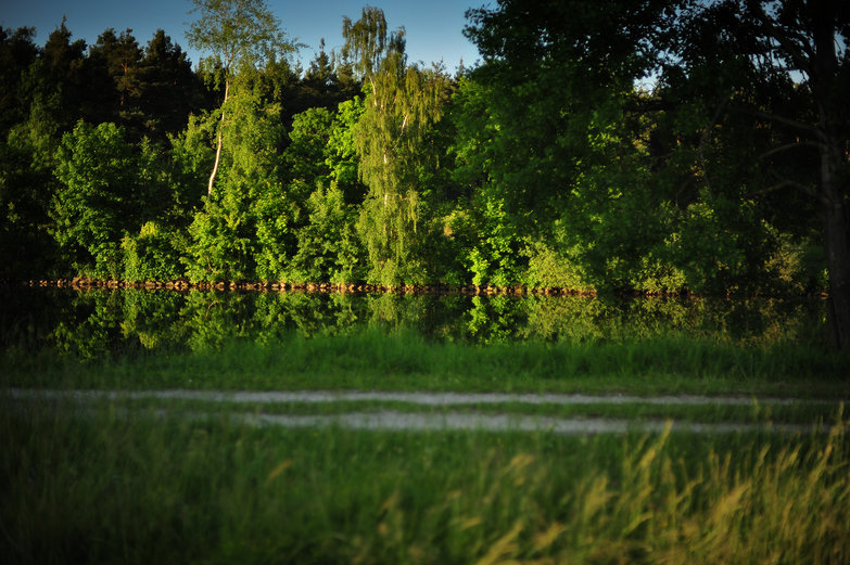
M135 150L114 124L80 123L65 134L51 229L75 272L134 281L181 275L191 188L164 153L147 140Z

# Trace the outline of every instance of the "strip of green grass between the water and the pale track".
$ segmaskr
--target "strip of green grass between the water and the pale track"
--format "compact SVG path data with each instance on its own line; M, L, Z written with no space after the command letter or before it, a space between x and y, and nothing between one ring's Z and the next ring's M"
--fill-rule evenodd
M0 384L71 388L623 391L850 398L850 354L815 346L520 342L487 346L414 334L297 335L220 349L144 350L96 361L11 347Z

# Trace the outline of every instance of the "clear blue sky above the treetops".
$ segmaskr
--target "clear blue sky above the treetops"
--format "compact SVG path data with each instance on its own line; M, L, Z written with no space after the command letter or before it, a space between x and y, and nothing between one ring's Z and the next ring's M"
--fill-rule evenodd
M464 13L469 8L495 4L492 0L267 0L290 37L309 46L300 53L306 64L313 59L319 39L328 51L342 46L342 16L356 21L364 5L383 9L388 26L407 30L407 53L411 62L443 61L453 72L462 59L471 66L478 51L461 34ZM93 43L107 27L132 34L144 46L156 29L189 53L192 63L200 54L189 49L183 31L191 20L189 0L0 0L0 25L4 28L34 26L36 42L43 44L50 33L67 16L74 38Z

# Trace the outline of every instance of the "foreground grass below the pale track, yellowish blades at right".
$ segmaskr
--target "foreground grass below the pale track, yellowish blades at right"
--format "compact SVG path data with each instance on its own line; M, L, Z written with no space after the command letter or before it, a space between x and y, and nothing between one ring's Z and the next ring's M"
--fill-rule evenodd
M74 410L0 410L4 563L850 558L843 423L776 441L296 431Z

